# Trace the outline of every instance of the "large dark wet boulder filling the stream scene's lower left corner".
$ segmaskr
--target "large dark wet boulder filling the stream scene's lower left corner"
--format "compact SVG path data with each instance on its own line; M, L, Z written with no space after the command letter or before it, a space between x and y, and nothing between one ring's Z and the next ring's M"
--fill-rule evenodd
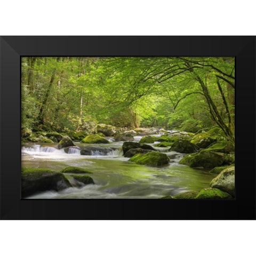
M49 169L23 168L21 171L21 196L47 191L59 191L72 187L67 178L60 172Z

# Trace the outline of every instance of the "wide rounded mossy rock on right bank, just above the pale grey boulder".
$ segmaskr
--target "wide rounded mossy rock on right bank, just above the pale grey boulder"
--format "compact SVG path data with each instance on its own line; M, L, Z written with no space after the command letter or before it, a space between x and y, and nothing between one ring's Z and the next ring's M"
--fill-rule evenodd
M213 168L221 166L225 161L225 154L202 150L189 161L190 167Z

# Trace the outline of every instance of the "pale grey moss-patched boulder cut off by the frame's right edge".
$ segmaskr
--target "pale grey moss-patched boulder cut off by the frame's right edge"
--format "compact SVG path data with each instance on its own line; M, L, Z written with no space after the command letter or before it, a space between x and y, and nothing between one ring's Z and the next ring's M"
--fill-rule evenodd
M211 183L212 188L218 188L235 196L235 166L223 170Z

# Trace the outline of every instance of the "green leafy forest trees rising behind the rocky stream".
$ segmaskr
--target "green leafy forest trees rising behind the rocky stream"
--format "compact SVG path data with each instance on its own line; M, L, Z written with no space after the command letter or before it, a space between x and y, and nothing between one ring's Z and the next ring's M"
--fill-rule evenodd
M218 125L234 141L228 57L23 57L22 127Z

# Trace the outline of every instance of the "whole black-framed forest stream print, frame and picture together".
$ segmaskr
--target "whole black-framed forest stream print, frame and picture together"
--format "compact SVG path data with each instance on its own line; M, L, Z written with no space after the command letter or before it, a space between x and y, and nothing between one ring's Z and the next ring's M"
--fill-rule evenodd
M255 37L2 36L2 219L255 219Z

